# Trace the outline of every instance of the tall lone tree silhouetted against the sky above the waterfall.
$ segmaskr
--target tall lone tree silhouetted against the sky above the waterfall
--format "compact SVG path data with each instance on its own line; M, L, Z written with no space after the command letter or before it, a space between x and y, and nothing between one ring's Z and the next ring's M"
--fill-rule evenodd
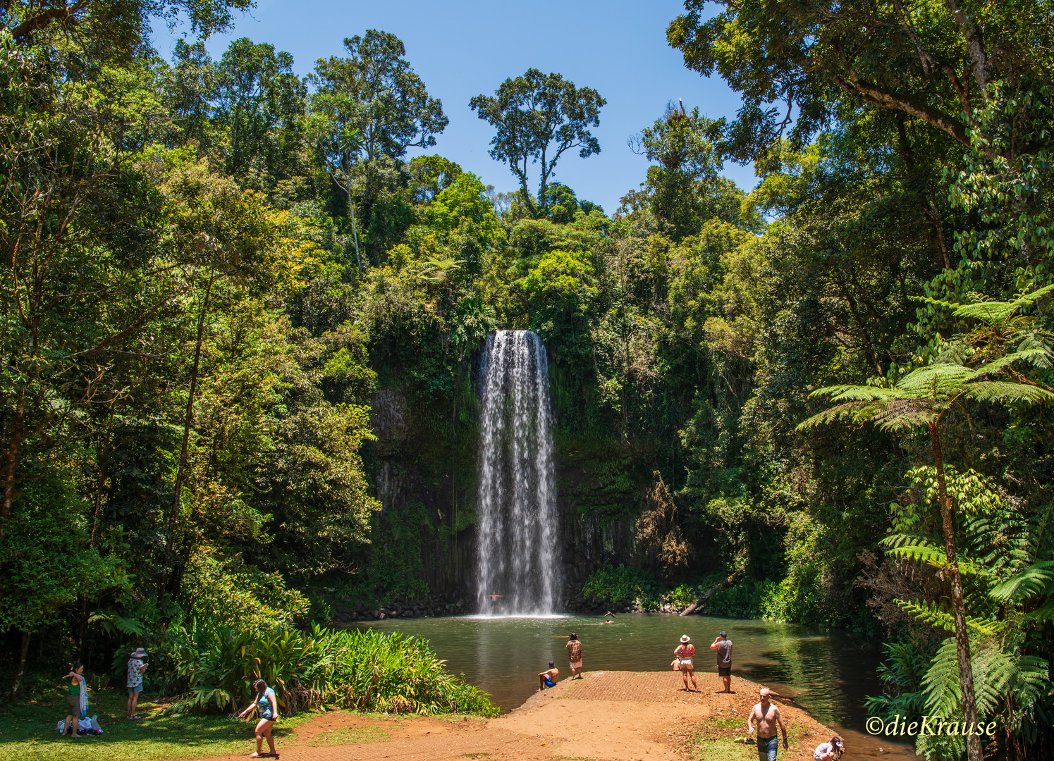
M480 118L497 130L490 156L512 170L535 217L545 215L546 188L560 157L574 148L582 158L600 153L600 141L589 128L600 126L600 110L606 103L592 87L575 87L560 74L536 69L506 79L493 96L477 95L469 101ZM536 202L528 188L533 163L541 164Z

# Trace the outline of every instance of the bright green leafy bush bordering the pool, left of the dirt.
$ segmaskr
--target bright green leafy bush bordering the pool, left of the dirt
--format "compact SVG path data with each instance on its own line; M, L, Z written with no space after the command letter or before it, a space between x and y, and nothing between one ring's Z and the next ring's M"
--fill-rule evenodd
M449 674L424 640L372 629L178 629L172 642L187 695L173 713L231 711L273 687L282 714L337 706L398 714L493 716L488 696Z

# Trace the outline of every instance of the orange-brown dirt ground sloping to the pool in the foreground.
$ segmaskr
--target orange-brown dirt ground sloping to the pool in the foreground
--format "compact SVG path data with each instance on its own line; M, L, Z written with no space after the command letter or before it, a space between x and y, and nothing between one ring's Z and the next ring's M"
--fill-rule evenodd
M733 695L719 695L717 675L700 674L699 692L681 689L674 672L594 671L539 692L494 719L359 717L327 714L284 738L286 761L440 761L566 759L573 761L717 761L757 759L737 743L757 702L759 685L733 678ZM833 733L804 710L775 698L787 722L790 750L781 759L807 761ZM226 756L214 761L245 758ZM265 750L267 748L265 747Z

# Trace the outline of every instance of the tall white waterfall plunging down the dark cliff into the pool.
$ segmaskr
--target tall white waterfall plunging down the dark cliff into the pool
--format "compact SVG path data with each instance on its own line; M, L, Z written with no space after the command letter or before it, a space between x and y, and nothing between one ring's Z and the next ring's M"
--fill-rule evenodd
M551 613L557 494L549 365L527 330L487 336L476 558L481 613ZM494 597L499 596L499 597Z

